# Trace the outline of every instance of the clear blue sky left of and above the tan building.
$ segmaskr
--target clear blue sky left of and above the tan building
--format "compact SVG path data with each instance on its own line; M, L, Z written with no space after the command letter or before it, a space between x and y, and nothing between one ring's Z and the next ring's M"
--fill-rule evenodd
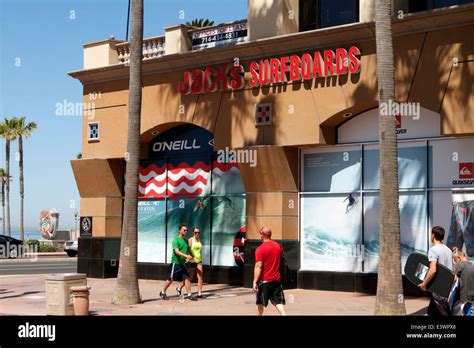
M82 85L67 72L82 68L82 44L125 39L128 0L0 0L0 117L26 116L38 129L26 140L25 226L56 208L60 228L74 227L79 193L69 161L81 152L81 118L56 116L56 103L82 102ZM74 12L71 12L74 11ZM185 18L180 19L180 11ZM145 37L163 27L209 18L247 17L247 0L145 0ZM18 66L19 65L19 66ZM12 144L12 227L19 226L18 142ZM0 167L5 142L0 140Z

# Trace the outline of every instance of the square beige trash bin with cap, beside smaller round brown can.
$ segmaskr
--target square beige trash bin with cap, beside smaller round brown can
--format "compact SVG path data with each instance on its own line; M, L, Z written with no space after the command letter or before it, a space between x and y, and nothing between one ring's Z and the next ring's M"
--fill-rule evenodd
M71 287L87 285L82 273L59 273L46 276L46 314L74 315Z

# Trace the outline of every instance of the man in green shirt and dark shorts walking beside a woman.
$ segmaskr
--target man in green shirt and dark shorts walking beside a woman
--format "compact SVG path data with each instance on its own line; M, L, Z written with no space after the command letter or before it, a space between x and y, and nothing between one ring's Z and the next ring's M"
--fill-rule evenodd
M188 232L188 226L185 224L179 225L179 235L173 240L173 252L171 256L171 265L168 271L168 278L165 281L163 290L160 292L160 298L167 300L166 290L169 288L173 280L183 281L186 291L188 293L185 296L186 299L191 301L197 301L195 297L191 295L191 282L189 280L189 267L188 261L192 259L192 256L188 253L188 242L184 239Z

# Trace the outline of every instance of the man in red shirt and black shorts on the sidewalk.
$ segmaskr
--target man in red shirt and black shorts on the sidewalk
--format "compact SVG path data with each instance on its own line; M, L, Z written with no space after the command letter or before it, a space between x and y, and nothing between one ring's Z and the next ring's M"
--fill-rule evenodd
M286 315L285 294L280 276L283 249L272 240L272 231L268 227L262 227L258 232L263 243L255 251L253 290L257 293L257 314L262 315L264 306L271 301L281 315Z

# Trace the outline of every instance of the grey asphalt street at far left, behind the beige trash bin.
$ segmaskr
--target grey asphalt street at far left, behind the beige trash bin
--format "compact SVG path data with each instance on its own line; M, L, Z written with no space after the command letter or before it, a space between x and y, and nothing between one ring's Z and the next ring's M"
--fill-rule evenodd
M75 272L77 272L76 257L37 257L0 260L0 275Z

